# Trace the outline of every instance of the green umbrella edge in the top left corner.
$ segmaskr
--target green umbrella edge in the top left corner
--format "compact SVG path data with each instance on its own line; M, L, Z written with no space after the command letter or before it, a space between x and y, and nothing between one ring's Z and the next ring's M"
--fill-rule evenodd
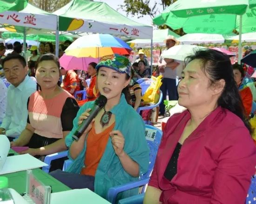
M0 0L0 13L4 11L20 11L27 6L27 0Z

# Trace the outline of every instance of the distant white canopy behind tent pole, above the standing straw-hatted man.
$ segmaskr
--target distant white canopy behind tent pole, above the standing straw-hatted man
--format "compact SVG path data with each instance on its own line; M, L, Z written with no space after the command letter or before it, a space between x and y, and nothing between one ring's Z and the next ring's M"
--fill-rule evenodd
M153 46L164 46L165 43L163 40L166 39L168 35L173 35L175 38L181 37L169 29L153 30ZM150 47L151 39L134 39L127 43L134 44L135 47Z

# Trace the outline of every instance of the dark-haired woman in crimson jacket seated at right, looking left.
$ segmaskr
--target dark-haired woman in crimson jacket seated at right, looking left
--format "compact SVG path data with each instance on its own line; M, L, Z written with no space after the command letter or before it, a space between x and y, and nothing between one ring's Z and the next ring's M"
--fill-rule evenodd
M186 60L179 105L165 126L145 204L244 204L256 147L229 57L200 50Z

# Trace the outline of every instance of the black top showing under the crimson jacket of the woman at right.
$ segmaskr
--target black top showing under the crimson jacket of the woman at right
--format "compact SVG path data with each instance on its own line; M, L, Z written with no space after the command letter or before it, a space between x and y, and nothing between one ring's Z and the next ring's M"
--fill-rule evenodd
M175 174L177 173L177 162L178 157L181 151L182 145L177 143L175 150L173 151L172 157L169 160L169 163L165 169L164 177L167 178L169 181L174 178Z

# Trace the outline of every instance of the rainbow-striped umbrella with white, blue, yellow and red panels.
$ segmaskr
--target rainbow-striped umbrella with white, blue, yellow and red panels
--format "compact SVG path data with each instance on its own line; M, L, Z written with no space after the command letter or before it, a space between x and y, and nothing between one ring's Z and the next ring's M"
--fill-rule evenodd
M74 57L101 58L110 54L126 55L132 48L126 42L110 34L90 34L76 39L65 50Z

